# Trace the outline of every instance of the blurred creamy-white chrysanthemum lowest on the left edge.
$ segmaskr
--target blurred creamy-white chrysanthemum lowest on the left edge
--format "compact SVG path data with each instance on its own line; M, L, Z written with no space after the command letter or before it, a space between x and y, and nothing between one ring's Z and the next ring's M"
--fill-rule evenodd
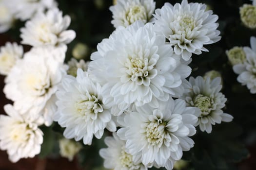
M0 149L7 150L12 162L39 154L43 133L37 119L20 115L10 104L5 105L4 110L8 116L0 115Z

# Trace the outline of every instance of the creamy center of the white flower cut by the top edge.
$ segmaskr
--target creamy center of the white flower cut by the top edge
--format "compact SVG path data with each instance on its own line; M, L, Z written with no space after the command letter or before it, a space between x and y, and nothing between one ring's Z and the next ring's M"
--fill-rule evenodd
M146 9L142 5L133 5L126 12L126 19L129 24L134 23L137 20L145 20L147 21Z

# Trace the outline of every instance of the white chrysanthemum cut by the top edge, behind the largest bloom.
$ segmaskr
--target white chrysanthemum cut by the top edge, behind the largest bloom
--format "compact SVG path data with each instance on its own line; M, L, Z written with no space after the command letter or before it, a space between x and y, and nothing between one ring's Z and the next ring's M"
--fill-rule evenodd
M113 13L111 23L115 28L127 27L137 20L149 22L156 8L154 0L117 0L117 4L109 9Z

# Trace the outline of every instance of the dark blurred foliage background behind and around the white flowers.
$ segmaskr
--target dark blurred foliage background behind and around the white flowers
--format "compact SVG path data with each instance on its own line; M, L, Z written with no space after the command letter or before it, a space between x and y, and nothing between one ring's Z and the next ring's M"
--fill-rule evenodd
M103 38L108 38L114 31L111 24L112 13L109 7L112 0L57 0L63 14L71 17L69 29L75 30L76 39L68 45L66 61L71 57L90 60L90 54L97 50L97 44ZM181 0L155 0L156 8L164 2L175 4ZM224 112L234 117L232 123L223 123L214 126L210 135L197 132L193 136L195 147L191 152L185 152L183 158L190 160L184 168L179 170L256 170L256 96L236 81L237 75L228 63L225 51L234 46L250 46L250 37L256 36L256 30L243 26L240 21L239 7L244 3L251 4L250 0L189 0L202 2L219 16L221 40L206 48L210 52L203 52L200 56L193 55L190 67L191 76L203 76L206 71L215 69L223 79L222 93L228 101ZM16 21L13 28L0 34L0 46L5 42L20 42L20 28L24 22ZM30 49L24 46L25 51ZM4 77L0 76L0 89L4 86ZM0 90L0 114L4 114L3 105L11 103ZM58 125L51 128L54 132L61 132ZM73 161L59 156L56 147L55 134L42 127L44 144L42 152L33 159L22 159L16 164L8 160L5 151L0 151L0 170L104 170L103 160L98 150L105 147L103 139L93 140L92 146L84 146ZM48 138L47 138L48 137ZM163 169L164 170L164 169Z

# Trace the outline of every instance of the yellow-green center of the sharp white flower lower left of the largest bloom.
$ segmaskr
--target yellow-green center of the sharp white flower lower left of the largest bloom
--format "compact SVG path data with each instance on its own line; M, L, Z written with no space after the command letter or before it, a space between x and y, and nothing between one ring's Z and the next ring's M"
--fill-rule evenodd
M98 98L94 95L87 95L87 100L79 101L75 103L75 109L79 115L95 115L98 117L98 113L103 112L103 107Z

